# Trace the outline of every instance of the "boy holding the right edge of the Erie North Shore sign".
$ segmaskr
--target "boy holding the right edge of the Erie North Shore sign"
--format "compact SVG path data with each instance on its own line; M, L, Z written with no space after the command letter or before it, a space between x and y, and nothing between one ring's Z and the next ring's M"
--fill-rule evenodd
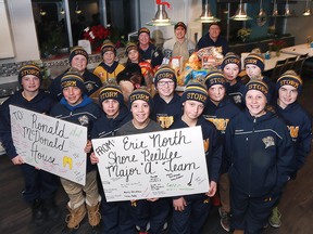
M222 146L214 125L201 116L206 100L208 93L204 84L198 81L188 83L181 96L183 116L171 127L171 129L195 126L202 127L210 179L210 190L208 193L173 198L172 234L201 233L201 229L210 212L211 203L209 197L214 196L217 190Z

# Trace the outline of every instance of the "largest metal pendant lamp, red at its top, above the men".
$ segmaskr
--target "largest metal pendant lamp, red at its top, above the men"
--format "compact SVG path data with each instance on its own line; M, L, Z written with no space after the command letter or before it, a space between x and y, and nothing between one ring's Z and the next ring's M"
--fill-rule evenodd
M174 25L175 22L171 22L171 18L167 16L165 11L165 5L171 8L168 2L162 2L161 0L156 0L158 11L155 13L154 18L151 22L148 22L146 25L149 26L170 26Z

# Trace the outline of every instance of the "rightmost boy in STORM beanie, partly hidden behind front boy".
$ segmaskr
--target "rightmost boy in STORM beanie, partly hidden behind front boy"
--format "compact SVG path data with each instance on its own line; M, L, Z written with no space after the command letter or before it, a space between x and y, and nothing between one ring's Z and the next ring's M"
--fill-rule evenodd
M297 101L302 91L302 79L293 70L283 74L277 79L276 88L276 114L285 120L296 150L295 170L291 173L291 179L296 179L297 171L303 167L311 151L312 118ZM276 206L268 222L272 226L279 227L280 218L281 213Z

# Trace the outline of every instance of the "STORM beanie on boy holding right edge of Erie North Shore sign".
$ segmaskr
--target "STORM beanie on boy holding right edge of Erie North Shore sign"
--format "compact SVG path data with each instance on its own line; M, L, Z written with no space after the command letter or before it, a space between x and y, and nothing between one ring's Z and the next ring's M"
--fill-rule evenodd
M188 100L193 100L206 104L208 91L205 86L198 80L190 80L181 95L181 104Z

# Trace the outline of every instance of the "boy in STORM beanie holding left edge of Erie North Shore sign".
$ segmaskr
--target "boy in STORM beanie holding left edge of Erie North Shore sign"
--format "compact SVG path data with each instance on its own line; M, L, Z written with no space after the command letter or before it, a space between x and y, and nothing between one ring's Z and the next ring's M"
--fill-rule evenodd
M102 107L103 114L92 127L91 139L114 136L118 129L132 119L129 110L124 105L124 98L120 87L115 83L110 83L101 88L99 104ZM91 153L90 159L91 164L99 162L99 158L95 153ZM100 186L102 194L101 219L103 233L126 234L128 231L127 223L129 223L129 230L134 230L132 217L126 212L128 204L125 202L108 203L102 184Z

